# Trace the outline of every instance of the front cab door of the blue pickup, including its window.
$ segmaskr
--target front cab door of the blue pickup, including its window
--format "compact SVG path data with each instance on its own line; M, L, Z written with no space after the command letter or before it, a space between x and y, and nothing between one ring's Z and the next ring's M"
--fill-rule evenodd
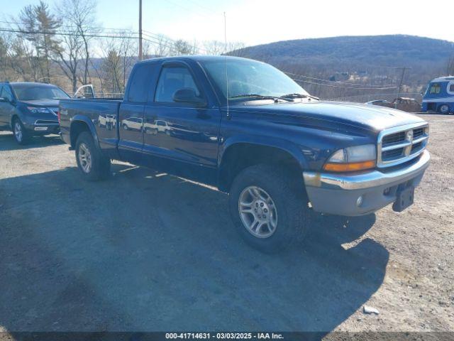
M162 65L153 102L145 107L144 125L150 126L150 133L144 133L143 150L151 166L158 158L168 173L210 182L208 177L216 174L221 114L217 107L175 102L175 92L182 89L194 90L208 103L189 65Z

